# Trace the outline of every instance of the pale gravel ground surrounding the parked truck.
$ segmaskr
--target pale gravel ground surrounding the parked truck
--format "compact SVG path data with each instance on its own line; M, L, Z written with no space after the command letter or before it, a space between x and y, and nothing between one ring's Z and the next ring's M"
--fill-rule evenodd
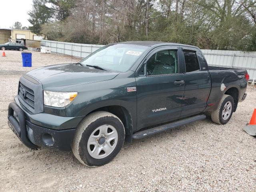
M125 144L109 164L83 166L72 152L26 148L7 125L7 108L21 74L33 68L77 62L68 56L32 52L0 57L0 191L256 191L256 138L242 128L256 107L249 87L230 122L209 119Z

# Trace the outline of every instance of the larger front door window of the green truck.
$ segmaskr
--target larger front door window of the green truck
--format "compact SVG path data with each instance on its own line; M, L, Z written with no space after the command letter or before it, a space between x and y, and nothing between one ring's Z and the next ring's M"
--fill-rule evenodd
M166 75L178 73L177 50L161 50L147 61L147 75Z

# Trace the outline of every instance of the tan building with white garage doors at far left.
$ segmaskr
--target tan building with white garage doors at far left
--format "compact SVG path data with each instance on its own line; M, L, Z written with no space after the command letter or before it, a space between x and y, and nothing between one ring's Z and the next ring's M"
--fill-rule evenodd
M26 44L26 40L41 40L43 37L34 34L30 30L21 29L0 29L0 44L10 40L20 40Z

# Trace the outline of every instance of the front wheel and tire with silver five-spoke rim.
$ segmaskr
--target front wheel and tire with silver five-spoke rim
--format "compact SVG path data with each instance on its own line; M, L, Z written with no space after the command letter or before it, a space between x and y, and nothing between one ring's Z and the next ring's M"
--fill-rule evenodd
M93 112L76 128L71 149L82 164L102 166L120 152L124 137L124 125L117 116L105 111Z

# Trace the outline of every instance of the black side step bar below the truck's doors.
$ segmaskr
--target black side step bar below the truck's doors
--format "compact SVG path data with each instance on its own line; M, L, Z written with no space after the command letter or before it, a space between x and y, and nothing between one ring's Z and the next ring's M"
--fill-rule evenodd
M182 119L182 120L179 120L179 121L176 121L176 122L160 125L158 127L154 127L154 128L150 128L150 129L147 129L147 130L140 131L140 132L136 132L132 135L132 138L133 139L142 139L142 138L145 138L145 137L148 137L148 136L160 133L160 132L164 132L164 131L167 131L167 130L171 130L171 129L174 129L176 127L180 127L182 125L186 125L186 124L198 121L198 120L203 120L205 118L206 118L205 115L197 115L197 116Z

